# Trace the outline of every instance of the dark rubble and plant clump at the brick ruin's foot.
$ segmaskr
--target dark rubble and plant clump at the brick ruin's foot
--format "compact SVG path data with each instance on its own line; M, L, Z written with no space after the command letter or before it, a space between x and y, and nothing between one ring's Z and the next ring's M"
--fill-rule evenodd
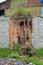
M22 47L21 48L21 53L23 55L29 55L30 57L36 55L35 50L32 49L31 47Z

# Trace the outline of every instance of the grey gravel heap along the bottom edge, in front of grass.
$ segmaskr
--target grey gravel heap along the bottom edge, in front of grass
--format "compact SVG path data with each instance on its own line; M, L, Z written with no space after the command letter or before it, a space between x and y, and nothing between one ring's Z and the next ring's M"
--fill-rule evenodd
M0 65L35 65L31 62L20 62L15 59L2 59Z

